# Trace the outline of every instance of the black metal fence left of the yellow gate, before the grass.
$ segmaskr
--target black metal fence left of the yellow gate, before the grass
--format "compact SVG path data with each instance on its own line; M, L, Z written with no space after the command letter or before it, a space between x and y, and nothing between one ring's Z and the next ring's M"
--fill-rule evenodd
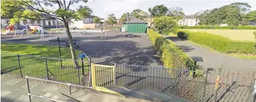
M1 53L1 74L4 73L89 86L90 62L88 59L73 61L72 59Z

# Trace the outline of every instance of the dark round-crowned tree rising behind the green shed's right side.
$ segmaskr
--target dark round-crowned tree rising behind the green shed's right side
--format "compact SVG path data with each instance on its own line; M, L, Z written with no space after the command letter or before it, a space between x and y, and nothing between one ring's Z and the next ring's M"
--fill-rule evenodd
M153 17L166 16L168 8L164 6L164 4L156 5L152 9L149 8L149 13L151 13Z

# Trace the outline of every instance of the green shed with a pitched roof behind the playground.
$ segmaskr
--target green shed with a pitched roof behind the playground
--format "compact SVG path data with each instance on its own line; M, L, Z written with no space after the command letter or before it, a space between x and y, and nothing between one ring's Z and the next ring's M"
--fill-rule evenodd
M128 29L127 29L128 25ZM134 18L123 23L123 28L127 33L146 33L147 32L147 22L141 19Z

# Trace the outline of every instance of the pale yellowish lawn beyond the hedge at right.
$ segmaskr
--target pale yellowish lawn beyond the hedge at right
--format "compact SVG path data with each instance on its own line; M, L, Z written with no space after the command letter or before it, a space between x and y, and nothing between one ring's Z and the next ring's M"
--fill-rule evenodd
M186 29L193 32L206 32L225 36L236 41L255 41L253 29Z

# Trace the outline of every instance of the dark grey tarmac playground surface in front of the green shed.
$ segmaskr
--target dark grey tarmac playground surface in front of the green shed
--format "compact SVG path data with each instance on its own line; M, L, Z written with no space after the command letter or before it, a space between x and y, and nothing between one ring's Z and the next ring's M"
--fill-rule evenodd
M92 63L99 64L136 64L141 66L162 66L161 59L154 50L151 41L147 39L147 34L135 34L136 36L127 37L126 33L120 31L107 31L107 37L103 33L72 33L73 41L80 44L78 50L83 51L92 59ZM2 43L26 43L26 44L46 44L58 46L57 38L60 37L60 45L66 46L67 34L45 34L45 38L40 39L39 35L24 36L19 39L8 38L1 35Z

